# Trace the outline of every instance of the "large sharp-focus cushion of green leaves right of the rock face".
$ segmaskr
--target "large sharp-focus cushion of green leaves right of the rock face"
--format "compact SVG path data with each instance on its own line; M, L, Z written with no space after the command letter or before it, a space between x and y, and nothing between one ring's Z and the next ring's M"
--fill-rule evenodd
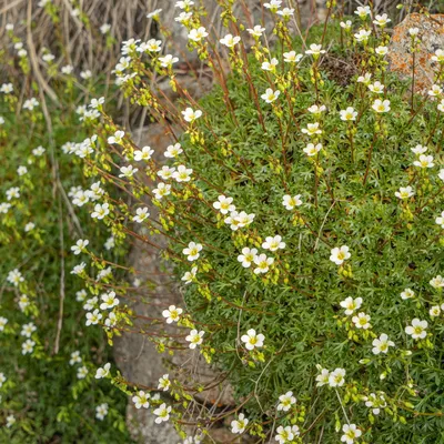
M344 56L336 46L330 57ZM282 61L281 54L276 58ZM442 114L436 102L420 97L411 111L408 84L379 68L372 80L385 84L390 112L372 110L377 94L356 83L356 77L346 88L330 80L322 62L316 98L311 69L310 63L300 69L297 84L291 82L291 71L280 70L274 80L279 104L262 101L260 111L239 73L228 83L232 112L222 89L199 103L204 118L184 137L182 148L201 196L190 192L186 212L193 218L183 230L178 228L181 243L174 245L178 256L182 243L203 245L195 283L186 286L188 309L209 326L204 337L216 351L214 360L231 370L238 395L254 393L246 404L250 420L264 420L263 413L291 390L299 403L311 406L306 424L319 417L309 436L314 440L322 428L323 443L337 442L334 423L343 420L336 393L316 387L315 377L316 365L343 367L341 396L351 422L369 424L367 442L441 442L444 329L442 317L431 319L428 310L444 302L442 289L430 284L444 272L444 238L435 222L444 209L437 176ZM258 91L270 88L258 63L250 63L250 74ZM307 112L315 103L326 107L319 117ZM347 107L359 112L356 122L340 119L339 111ZM323 148L311 158L303 149L313 140L301 129L315 121L322 134L314 143ZM411 149L417 144L428 147L434 168L413 165ZM396 198L400 186L407 185L414 198ZM226 215L209 204L220 194L233 198L236 211L254 213L254 222L230 230ZM287 211L284 194L300 194L302 205ZM266 236L276 234L286 243L284 250L261 249ZM329 259L341 245L351 252L344 266ZM245 246L274 258L266 274L255 275L254 264L244 269L236 260ZM176 266L180 275L190 271L186 262ZM407 287L416 296L402 300ZM349 296L362 297L359 311L371 315L371 329L359 330L344 315L340 302ZM404 329L415 317L428 320L426 340L406 335ZM248 329L265 335L263 354L255 360L239 347ZM372 340L381 333L395 347L373 355ZM374 417L360 396L380 391L387 407Z

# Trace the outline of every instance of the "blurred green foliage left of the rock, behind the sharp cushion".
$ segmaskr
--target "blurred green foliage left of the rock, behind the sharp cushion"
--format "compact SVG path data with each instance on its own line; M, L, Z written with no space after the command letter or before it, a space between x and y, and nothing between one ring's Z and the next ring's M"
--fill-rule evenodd
M85 230L100 249L108 235L84 224L85 218L75 215L64 199L71 186L90 181L82 179L77 162L61 151L67 141L83 135L70 100L63 100L63 110L50 108L52 133L41 110L16 114L13 93L1 103L0 201L11 208L0 214L0 316L8 320L0 332L0 372L7 379L0 387L0 421L16 418L10 427L0 428L2 443L129 442L125 396L94 380L97 364L109 360L107 341L101 330L84 327L83 303L75 295L82 286L70 274L78 262L70 249L80 233ZM46 151L36 155L39 145ZM27 173L20 175L19 167L26 167ZM7 191L16 186L20 198L8 201ZM29 222L34 228L27 232ZM23 278L18 286L7 279L14 269ZM23 310L19 306L22 294L29 299ZM29 323L37 327L30 337L36 345L31 354L23 355L22 343L28 337L21 332ZM74 351L82 362L70 365ZM89 373L78 379L82 366ZM95 418L95 406L101 403L110 406L104 421Z

